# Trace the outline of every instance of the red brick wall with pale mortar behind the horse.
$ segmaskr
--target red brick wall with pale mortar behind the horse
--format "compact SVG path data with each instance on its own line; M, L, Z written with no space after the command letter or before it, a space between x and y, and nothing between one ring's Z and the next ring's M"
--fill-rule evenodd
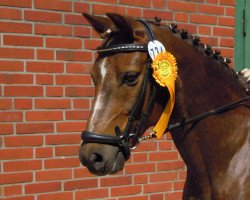
M180 199L185 166L169 135L141 144L117 175L80 166L101 41L81 12L159 16L234 54L235 0L1 0L0 199Z

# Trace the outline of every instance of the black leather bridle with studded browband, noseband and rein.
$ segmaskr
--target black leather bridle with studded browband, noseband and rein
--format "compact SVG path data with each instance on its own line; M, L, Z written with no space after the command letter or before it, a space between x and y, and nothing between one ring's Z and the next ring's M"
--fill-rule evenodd
M138 21L144 25L149 41L155 40L153 31L150 25L144 20L138 20ZM123 52L123 53L124 52L148 52L148 48L147 48L147 45L144 45L144 44L120 44L120 45L98 47L97 52L99 54L113 54L113 53L119 53L119 52ZM151 62L152 60L150 58L146 62L146 72L145 72L144 80L141 86L141 91L131 111L131 114L128 117L128 122L126 124L124 132L122 133L118 126L115 127L116 136L105 135L105 134L95 134L90 131L83 131L81 134L81 138L84 143L98 143L98 144L107 144L107 145L117 146L123 152L124 158L126 160L129 159L130 149L134 148L136 144L138 144L138 141L140 140L141 129L143 125L145 124L145 122L147 121L149 114L151 113L151 110L153 108L154 102L155 102L156 85L155 85L155 82L152 81ZM151 90L150 90L151 95L150 95L149 101L147 102L146 109L145 111L143 111L142 108L143 108L143 105L145 104L146 88L148 84L151 87ZM186 120L186 118L183 118L180 122L169 125L166 129L166 132L172 131L180 127L181 129L184 129L186 124L196 123L209 116L232 110L236 108L237 106L242 105L244 101L247 101L249 99L250 99L250 96L247 96L239 101L222 106L215 110L211 110L209 112L193 117L191 119ZM136 126L136 129L134 129L134 122L135 120L138 120L138 119L139 119L138 125ZM154 137L154 135L151 135L151 137Z

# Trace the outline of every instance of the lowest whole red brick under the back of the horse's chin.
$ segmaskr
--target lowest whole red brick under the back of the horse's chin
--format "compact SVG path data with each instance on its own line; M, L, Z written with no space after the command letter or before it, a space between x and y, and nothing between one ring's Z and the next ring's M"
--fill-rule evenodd
M128 196L128 195L136 195L142 192L142 187L140 185L133 186L119 186L111 188L111 196Z

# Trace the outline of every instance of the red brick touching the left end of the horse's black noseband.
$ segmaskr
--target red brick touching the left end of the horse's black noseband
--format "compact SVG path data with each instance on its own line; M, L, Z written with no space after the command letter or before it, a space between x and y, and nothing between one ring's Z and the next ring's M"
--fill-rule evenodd
M46 135L47 145L58 145L58 144L79 144L81 137L79 134L56 134Z

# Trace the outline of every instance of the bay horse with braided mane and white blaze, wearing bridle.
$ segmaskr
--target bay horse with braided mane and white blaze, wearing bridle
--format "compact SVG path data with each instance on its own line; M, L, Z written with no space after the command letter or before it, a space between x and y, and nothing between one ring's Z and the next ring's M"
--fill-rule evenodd
M83 15L104 42L91 72L96 94L81 163L96 175L122 170L164 112L171 94L153 78L147 47L157 39L178 67L166 131L187 166L183 199L250 199L249 96L219 51L159 19Z

